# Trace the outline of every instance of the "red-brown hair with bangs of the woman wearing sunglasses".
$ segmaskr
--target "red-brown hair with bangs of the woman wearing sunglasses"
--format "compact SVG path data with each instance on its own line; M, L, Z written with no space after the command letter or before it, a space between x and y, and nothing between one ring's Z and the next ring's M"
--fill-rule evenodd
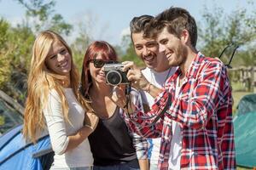
M101 54L102 59L104 60L117 60L117 54L114 48L108 42L96 41L90 44L84 54L81 77L81 91L86 99L88 99L89 88L92 84L89 70L89 62L91 59L95 59L98 54Z

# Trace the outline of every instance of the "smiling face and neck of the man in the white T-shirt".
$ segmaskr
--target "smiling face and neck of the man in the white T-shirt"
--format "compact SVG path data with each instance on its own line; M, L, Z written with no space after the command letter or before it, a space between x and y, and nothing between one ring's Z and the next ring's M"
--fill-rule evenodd
M132 40L137 56L143 59L145 65L154 71L166 71L166 57L159 52L158 43L151 38L144 38L143 32L132 33Z

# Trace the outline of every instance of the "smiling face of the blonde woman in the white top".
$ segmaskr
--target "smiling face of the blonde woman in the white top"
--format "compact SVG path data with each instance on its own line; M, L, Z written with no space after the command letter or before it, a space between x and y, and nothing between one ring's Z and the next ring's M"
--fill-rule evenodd
M45 59L45 65L49 71L62 76L69 76L71 62L71 55L68 53L67 48L61 42L53 42Z

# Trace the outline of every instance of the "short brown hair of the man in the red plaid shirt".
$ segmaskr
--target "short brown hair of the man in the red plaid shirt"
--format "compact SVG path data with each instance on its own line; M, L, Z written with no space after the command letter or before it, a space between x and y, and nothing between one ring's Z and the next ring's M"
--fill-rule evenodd
M193 16L184 8L171 7L158 14L154 19L154 27L161 31L164 27L167 30L180 37L184 29L189 31L191 45L195 47L197 41L197 26Z

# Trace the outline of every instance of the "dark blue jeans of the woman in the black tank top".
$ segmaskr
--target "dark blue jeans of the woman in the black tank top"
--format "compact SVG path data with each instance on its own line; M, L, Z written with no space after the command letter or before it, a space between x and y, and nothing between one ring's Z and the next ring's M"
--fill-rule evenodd
M134 160L112 166L94 166L93 170L140 170L140 167L138 165L138 161Z

